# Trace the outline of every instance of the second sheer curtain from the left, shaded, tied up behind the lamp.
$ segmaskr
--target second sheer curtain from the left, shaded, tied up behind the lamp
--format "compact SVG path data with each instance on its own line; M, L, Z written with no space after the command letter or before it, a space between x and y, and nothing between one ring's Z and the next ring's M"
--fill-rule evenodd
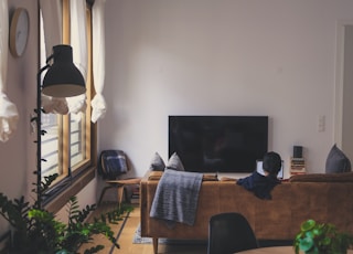
M42 63L53 52L53 46L62 44L62 2L61 0L40 0L43 18L45 54ZM42 74L44 75L44 73ZM42 106L45 113L67 114L68 107L65 98L54 98L42 94Z

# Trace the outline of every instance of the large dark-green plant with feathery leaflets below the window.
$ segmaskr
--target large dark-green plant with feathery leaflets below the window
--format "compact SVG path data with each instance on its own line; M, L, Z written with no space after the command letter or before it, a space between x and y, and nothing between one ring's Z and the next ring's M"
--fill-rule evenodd
M38 197L42 199L56 177L57 174L45 177L40 188L32 191L39 190ZM12 227L11 254L75 254L83 244L92 242L95 234L104 234L119 247L108 223L117 223L121 220L122 213L131 211L132 208L119 205L89 223L86 219L95 209L96 205L93 204L79 210L77 199L73 197L67 202L68 222L63 223L56 220L53 213L42 209L38 200L30 204L23 197L9 200L0 193L0 215ZM97 253L103 248L103 245L96 245L84 253Z

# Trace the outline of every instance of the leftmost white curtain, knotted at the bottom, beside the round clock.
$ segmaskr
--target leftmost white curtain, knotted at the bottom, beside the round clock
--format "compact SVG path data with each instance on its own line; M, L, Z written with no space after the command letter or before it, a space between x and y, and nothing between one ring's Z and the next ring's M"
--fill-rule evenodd
M8 0L0 1L0 140L10 139L18 127L17 106L6 95L9 52L9 7Z

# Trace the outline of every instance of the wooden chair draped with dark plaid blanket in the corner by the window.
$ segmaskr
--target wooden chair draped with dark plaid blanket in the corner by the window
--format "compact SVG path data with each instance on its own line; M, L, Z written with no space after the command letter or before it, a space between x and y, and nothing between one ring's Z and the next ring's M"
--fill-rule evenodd
M121 176L129 171L127 166L127 158L121 150L103 150L99 156L98 161L98 173L103 176L106 180L106 186L100 193L98 205L100 205L101 200L107 190L116 188L118 192L118 204L125 200L129 200L127 195L126 187L140 184L141 178L127 178L124 179Z

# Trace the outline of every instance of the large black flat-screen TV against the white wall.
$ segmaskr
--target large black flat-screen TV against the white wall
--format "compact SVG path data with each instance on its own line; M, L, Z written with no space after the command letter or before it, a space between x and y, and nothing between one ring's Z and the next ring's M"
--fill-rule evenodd
M253 172L267 144L267 116L169 116L169 156L186 171Z

